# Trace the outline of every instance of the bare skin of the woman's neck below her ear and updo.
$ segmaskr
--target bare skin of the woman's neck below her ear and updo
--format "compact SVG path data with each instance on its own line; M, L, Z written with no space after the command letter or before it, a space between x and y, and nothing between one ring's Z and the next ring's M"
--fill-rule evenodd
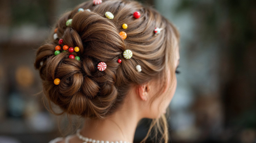
M86 119L80 134L95 140L127 141L132 143L138 122L147 110L136 88L132 88L121 107L106 119Z

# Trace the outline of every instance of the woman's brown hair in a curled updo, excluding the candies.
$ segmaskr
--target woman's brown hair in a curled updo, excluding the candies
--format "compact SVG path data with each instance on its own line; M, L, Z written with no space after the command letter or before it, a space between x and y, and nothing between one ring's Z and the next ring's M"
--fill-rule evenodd
M91 12L78 12L79 8ZM107 11L113 13L112 20L105 17ZM141 13L139 19L133 18L135 11ZM65 25L68 19L73 19L69 27ZM127 29L122 28L124 23L128 25ZM69 52L55 56L54 47L59 45L56 39L39 47L34 65L39 69L49 105L53 102L59 106L63 110L61 114L103 119L120 107L132 85L164 79L167 67L174 75L173 51L179 39L178 31L151 7L126 0L106 0L99 5L87 1L64 13L56 27L57 35L65 45L80 48L72 54L81 60L69 59ZM163 28L157 36L154 35L155 27ZM119 35L121 31L127 33L125 40ZM123 57L125 49L132 51L131 59ZM122 60L121 64L118 59ZM101 61L107 64L105 71L97 69ZM138 64L142 72L136 70ZM55 78L61 80L58 86L53 83ZM50 110L53 111L52 107ZM165 116L154 120L150 130L154 125L167 142Z

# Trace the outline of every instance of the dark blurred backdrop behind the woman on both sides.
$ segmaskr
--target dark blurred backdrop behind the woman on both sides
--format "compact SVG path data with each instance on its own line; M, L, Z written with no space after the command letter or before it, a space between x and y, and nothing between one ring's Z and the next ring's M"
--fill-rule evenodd
M42 103L33 62L58 17L82 2L0 0L0 143L48 143L60 136L57 117ZM141 2L181 35L170 142L256 143L256 1ZM146 129L138 127L135 143Z

